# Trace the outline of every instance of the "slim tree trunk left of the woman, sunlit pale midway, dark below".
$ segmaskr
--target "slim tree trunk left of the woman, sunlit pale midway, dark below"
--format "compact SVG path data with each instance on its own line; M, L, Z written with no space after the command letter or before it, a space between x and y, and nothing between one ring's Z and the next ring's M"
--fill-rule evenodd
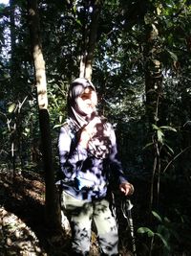
M50 117L48 112L47 82L45 72L45 61L42 54L40 39L39 16L37 12L37 1L28 0L29 22L32 41L32 57L34 61L35 82L37 88L37 102L39 109L39 124L41 131L41 144L45 170L46 183L46 220L52 228L60 225L59 204L54 185L52 138L50 129Z

